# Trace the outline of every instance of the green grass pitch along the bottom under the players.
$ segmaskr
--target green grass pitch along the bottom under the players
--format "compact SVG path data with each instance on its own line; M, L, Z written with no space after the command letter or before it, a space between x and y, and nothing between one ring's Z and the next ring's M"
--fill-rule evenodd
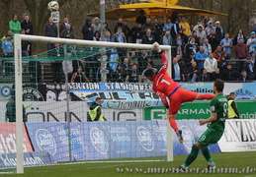
M237 173L218 172L215 174L203 173L207 166L207 162L202 154L190 166L192 168L200 168L200 172L188 173L173 173L166 172L168 168L175 168L181 165L186 159L187 155L175 155L174 161L157 161L157 162L105 162L105 163L76 163L76 164L58 164L42 167L29 167L25 168L24 174L0 174L0 176L21 176L21 177L119 177L119 176L188 176L188 177L256 177L256 151L250 152L228 152L228 153L213 153L213 160L217 168L238 168ZM164 157L150 157L150 160L164 159ZM118 159L120 160L120 159ZM130 160L130 159L128 159ZM249 168L248 168L249 167ZM118 172L117 168L120 171ZM152 169L160 169L152 171ZM132 169L132 172L127 171ZM136 170L137 169L137 172ZM150 173L148 173L150 169ZM161 170L165 170L164 173ZM250 170L247 173L247 170ZM242 171L245 170L245 171ZM239 173L240 171L240 173Z

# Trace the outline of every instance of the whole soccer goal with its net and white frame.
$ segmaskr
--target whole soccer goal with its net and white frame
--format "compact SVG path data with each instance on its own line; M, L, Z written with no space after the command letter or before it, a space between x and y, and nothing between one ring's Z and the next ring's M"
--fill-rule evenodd
M28 56L22 47L28 41L43 52ZM58 162L173 159L165 118L145 111L163 106L143 77L145 69L161 67L153 45L16 34L14 48L1 65L2 172ZM171 47L160 48L170 59Z

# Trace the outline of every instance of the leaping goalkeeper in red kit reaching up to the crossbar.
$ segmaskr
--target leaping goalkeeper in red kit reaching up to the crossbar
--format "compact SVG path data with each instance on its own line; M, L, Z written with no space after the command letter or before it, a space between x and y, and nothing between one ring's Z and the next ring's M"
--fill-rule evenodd
M154 73L152 69L147 69L144 72L144 76L153 82L154 92L160 96L164 106L168 109L169 122L173 130L176 132L180 143L183 143L182 131L179 130L176 122L176 114L180 109L180 105L183 102L191 102L195 99L212 99L214 94L200 94L191 90L183 89L181 86L174 82L167 73L168 60L165 53L159 48L159 44L155 42L153 44L154 50L159 52L162 57L162 67L158 73ZM169 102L167 101L169 99Z

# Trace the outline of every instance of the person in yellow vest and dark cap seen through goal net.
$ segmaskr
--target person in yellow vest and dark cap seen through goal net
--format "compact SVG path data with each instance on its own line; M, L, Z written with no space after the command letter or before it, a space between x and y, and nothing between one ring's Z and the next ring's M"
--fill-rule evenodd
M96 97L89 109L89 116L91 121L106 121L102 113L102 98Z

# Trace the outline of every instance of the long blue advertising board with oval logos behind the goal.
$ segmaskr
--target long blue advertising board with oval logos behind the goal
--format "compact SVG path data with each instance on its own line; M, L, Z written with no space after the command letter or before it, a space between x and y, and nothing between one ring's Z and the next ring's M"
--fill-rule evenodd
M184 144L173 134L173 153L188 154L192 145L207 129L197 120L178 120ZM68 161L67 123L26 123L35 151L47 151L56 161ZM166 121L72 122L72 160L94 160L165 156ZM217 145L211 152L220 152Z

